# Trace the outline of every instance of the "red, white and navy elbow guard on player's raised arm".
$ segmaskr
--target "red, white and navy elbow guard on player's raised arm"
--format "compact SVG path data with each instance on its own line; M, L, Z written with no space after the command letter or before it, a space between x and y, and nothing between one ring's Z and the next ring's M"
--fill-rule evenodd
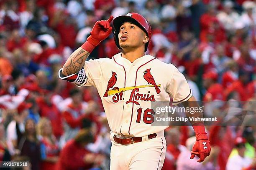
M62 74L62 68L59 70L59 78L69 82L75 83L77 86L83 86L87 82L87 75L85 74L84 68L72 75L65 76Z

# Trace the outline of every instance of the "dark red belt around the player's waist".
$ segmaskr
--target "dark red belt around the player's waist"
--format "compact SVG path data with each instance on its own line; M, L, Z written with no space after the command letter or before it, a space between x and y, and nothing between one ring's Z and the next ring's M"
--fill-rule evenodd
M148 135L148 139L156 138L156 133ZM133 143L138 143L143 141L142 137L130 137L130 138L119 138L114 135L114 140L116 143L119 143L121 145L131 145Z

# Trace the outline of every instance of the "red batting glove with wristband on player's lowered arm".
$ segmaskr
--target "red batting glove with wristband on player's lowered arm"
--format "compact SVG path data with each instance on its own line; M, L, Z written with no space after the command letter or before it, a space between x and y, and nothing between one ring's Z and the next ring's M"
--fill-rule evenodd
M197 162L202 163L211 153L210 141L208 140L208 135L205 132L203 123L195 123L193 128L197 140L192 148L190 159L194 159L195 155L197 155L197 157L200 158Z

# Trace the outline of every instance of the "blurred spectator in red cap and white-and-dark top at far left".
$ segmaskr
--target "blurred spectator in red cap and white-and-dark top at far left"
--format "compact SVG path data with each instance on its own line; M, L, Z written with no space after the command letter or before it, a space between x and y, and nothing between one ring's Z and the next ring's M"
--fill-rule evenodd
M25 131L25 120L28 116L28 109L32 107L31 103L22 102L17 107L17 112L13 115L13 120L7 126L6 140L11 155L19 153L17 150L22 133Z

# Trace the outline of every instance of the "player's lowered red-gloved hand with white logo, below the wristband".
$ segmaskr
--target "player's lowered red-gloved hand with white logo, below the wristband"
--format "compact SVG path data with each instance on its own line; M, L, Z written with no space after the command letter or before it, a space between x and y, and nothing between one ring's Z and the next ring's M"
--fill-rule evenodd
M207 133L197 134L196 142L192 148L190 159L194 159L197 155L199 160L197 162L202 163L207 156L211 153L210 141L208 140Z

